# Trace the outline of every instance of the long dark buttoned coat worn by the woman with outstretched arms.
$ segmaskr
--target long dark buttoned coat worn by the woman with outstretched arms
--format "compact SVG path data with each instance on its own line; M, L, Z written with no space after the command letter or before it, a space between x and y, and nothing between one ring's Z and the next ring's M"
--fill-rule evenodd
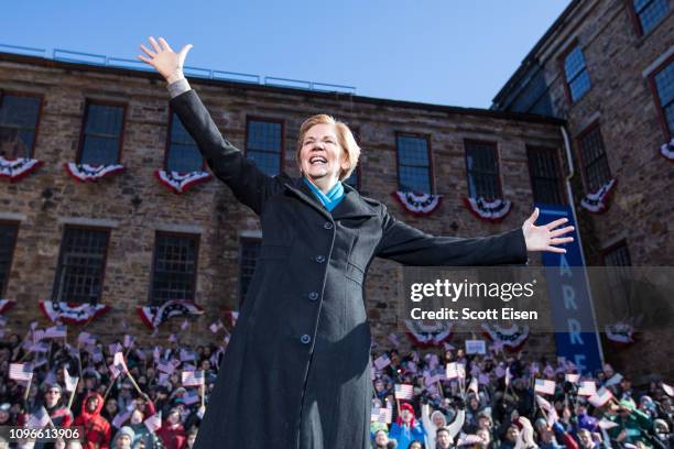
M521 229L433 237L348 185L328 211L301 178L267 176L225 140L194 90L171 100L213 173L261 220L262 244L195 447L369 448L374 256L407 265L525 263Z

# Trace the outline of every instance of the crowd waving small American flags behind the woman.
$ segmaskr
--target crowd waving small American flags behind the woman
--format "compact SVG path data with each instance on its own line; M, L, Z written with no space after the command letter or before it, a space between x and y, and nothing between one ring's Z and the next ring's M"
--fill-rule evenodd
M196 348L174 337L149 348L129 335L104 344L80 331L76 340L35 326L3 338L0 426L83 435L0 447L193 447L227 337ZM563 358L466 354L447 343L373 349L372 359L374 449L673 447L672 388L662 380L637 387L609 364L578 375Z

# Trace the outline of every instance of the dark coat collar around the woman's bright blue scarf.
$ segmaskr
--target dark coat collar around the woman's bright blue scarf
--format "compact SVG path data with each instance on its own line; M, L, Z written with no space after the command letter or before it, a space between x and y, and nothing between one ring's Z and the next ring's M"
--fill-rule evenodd
M344 197L337 207L333 209L331 213L318 201L312 189L302 178L291 178L283 186L328 219L339 220L343 218L374 217L378 215L362 199L358 190L346 183L344 184Z

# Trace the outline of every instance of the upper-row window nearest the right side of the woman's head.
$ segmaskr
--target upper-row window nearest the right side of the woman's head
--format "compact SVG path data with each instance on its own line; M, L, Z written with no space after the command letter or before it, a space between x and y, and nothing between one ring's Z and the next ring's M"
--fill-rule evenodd
M395 142L399 190L431 194L431 165L426 139L413 135L399 135Z

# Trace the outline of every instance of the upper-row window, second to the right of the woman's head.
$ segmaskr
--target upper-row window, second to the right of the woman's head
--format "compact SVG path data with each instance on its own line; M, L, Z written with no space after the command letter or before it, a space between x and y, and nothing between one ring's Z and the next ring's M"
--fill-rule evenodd
M470 197L485 199L501 197L496 152L494 144L466 142L466 169Z

